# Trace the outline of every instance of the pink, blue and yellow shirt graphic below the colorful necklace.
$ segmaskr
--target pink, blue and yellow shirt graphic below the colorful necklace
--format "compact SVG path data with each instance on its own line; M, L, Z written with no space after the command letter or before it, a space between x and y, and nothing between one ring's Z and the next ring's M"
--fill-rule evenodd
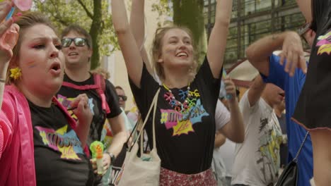
M173 129L173 136L194 132L193 125L201 123L203 116L209 116L201 103L197 89L194 92L189 90L180 92L181 99L185 100L183 104L176 104L176 100L171 96L171 92L166 92L164 95L173 109L161 109L161 124L164 124L167 130Z

